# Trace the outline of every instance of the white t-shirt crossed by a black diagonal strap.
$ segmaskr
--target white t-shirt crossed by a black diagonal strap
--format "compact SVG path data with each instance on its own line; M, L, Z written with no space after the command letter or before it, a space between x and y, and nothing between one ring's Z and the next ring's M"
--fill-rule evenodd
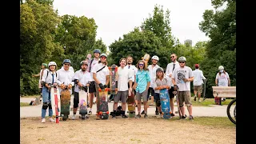
M98 81L102 83L102 85L106 85L106 76L110 75L110 70L107 66L104 67L104 69L100 70L103 66L102 62L95 64L93 67L92 73L96 74L96 78L98 78ZM100 70L100 71L98 71ZM96 73L98 71L98 73Z

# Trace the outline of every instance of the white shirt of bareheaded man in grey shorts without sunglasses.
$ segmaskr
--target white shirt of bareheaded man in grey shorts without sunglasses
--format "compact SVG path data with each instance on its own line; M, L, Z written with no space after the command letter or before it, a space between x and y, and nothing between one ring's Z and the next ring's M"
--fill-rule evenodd
M133 70L126 67L118 67L118 91L128 90L128 82L131 78L134 78Z

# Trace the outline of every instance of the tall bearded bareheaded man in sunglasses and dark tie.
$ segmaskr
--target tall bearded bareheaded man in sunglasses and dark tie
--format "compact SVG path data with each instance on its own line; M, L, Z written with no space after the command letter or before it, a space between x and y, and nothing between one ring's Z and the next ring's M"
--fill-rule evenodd
M172 53L170 54L170 60L171 62L166 66L166 76L170 78L171 81L171 75L173 74L173 71L175 67L179 67L178 62L176 61L177 55ZM174 111L174 84L173 82L170 82L170 89L168 90L169 95L170 95L170 110ZM170 114L172 117L174 114Z

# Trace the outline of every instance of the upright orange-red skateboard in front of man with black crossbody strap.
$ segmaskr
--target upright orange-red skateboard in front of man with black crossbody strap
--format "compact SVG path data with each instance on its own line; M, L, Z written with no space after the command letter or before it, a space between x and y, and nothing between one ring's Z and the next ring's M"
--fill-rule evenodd
M107 92L110 88L98 89L98 98L97 98L97 107L98 107L98 115L101 119L109 118L109 106L107 102Z

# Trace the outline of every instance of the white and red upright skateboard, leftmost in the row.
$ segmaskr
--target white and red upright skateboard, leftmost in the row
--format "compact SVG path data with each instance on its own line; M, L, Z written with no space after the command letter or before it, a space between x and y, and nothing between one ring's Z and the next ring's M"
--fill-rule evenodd
M53 117L55 118L55 122L58 123L61 112L61 101L60 101L60 95L58 86L51 85L50 86L50 101L51 101L51 107L53 110Z

